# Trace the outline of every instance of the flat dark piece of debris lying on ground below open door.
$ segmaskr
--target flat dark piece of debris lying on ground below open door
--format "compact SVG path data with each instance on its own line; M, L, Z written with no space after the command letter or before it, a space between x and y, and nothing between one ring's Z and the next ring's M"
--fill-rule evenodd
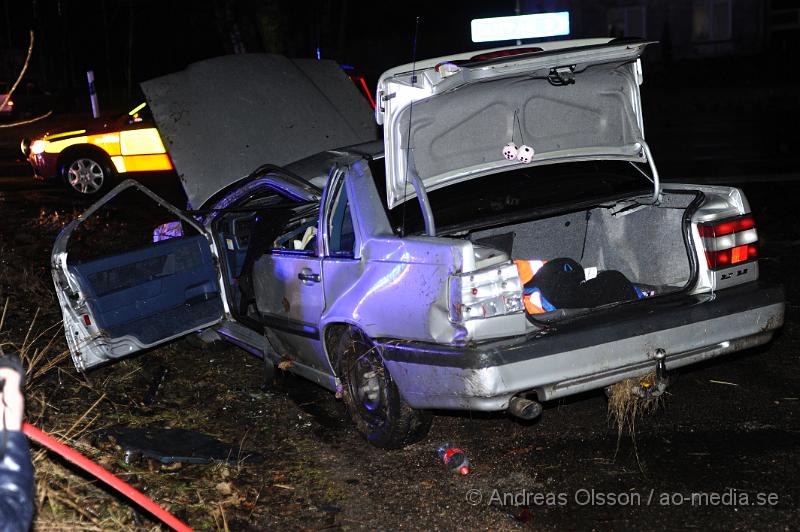
M126 462L138 457L151 458L162 464L259 464L264 461L259 453L187 429L118 427L98 432L97 440L98 443L111 442L121 449Z

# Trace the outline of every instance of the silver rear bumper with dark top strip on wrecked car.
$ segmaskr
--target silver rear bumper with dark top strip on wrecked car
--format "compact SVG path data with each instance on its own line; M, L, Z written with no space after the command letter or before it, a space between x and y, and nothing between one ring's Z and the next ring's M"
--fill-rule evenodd
M531 336L452 347L382 340L386 367L414 408L505 410L521 392L546 401L768 342L783 324L782 287L664 296Z

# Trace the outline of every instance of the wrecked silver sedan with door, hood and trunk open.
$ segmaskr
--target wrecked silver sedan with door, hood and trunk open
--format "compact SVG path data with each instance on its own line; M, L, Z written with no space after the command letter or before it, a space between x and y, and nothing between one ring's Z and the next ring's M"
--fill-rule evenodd
M783 293L758 280L744 195L659 179L646 44L392 69L383 142L331 149L369 137L334 120L320 153L284 164L273 148L283 166L244 179L204 166L197 124L175 119L179 100L160 107L167 84L145 84L196 210L169 207L182 236L69 261L71 232L120 190L166 204L126 181L65 228L53 275L76 366L202 331L340 393L364 436L394 448L424 437L431 409L530 419L544 401L768 342Z

